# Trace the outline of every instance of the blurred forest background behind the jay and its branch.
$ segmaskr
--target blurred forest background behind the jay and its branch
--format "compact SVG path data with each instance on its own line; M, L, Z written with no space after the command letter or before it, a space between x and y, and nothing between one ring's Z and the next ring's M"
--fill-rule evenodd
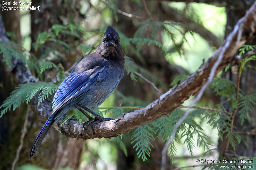
M114 26L126 53L126 72L116 91L96 111L115 118L147 106L162 92L196 71L216 52L254 1L27 2L32 2L31 6L40 6L41 11L1 11L8 42L0 42L0 53L2 58L10 53L4 50L12 49L12 55L19 55L40 82L52 85L40 84L42 88L35 91L36 94L40 90L48 90L47 95L42 94L42 100L47 98L52 101L56 86L69 74L73 65L97 48L108 25ZM248 45L242 47L241 54L251 49L255 42L245 44ZM239 155L251 158L256 155L254 60L255 57L252 57L250 61L244 61L246 66L241 73L239 92L241 100L236 99L234 88L240 65L230 65L216 76L197 103L198 107L216 108L226 113L232 113L238 106L242 111L237 113L233 123L230 124L231 118L225 113L195 108L169 147L171 156L167 155L167 169L194 165L196 159L233 159ZM12 68L10 61L8 65L8 61L7 57L6 63L1 62L0 66L0 105L21 84L13 78L15 68ZM140 75L153 82L160 92ZM19 87L30 91L36 88L26 85ZM186 100L183 106L188 106L192 99ZM22 99L20 93L15 100L25 102L21 105L16 103L18 108L14 111L9 111L6 106L1 108L0 169L11 169L20 150L18 161L15 162L17 170L158 170L165 142L174 124L184 114L184 108L175 109L171 115L111 139L77 140L61 135L52 128L36 155L28 161L30 148L44 122L26 104L29 99ZM16 107L15 104L12 106ZM81 114L76 112L71 111L69 116L83 121ZM25 136L21 140L22 135ZM23 145L18 149L21 141ZM228 148L225 148L226 144Z

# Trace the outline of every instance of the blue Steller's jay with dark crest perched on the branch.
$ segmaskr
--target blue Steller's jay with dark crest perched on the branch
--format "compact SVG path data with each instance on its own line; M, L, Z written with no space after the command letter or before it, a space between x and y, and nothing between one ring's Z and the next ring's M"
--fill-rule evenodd
M77 63L69 76L60 84L52 101L54 106L52 113L36 137L29 160L34 156L52 125L72 108L80 110L91 122L94 119L84 110L92 113L95 119L100 121L111 120L97 115L92 110L108 98L123 76L124 51L120 37L113 26L108 26L98 48Z

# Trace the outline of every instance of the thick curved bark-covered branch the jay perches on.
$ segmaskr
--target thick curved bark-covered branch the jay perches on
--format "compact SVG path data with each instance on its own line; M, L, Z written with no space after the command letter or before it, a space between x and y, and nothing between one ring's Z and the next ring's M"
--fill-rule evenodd
M255 37L256 29L256 2L252 5L250 11L241 19L239 29L232 37L230 44L224 51L223 59L216 69L216 73L220 72L228 63L233 62L233 57L236 51L245 41L252 40ZM1 22L1 20L0 20ZM1 25L1 24L0 24ZM0 28L1 30L1 28ZM3 35L0 35L3 36ZM1 37L0 37L1 39ZM203 65L200 66L196 72L183 80L179 85L172 88L168 92L160 96L159 99L153 101L147 107L124 114L115 120L100 122L95 125L94 128L88 127L84 130L83 122L79 123L76 119L69 119L62 126L61 121L65 118L63 116L59 122L54 125L54 128L59 130L67 137L92 139L92 138L111 138L137 128L141 125L147 124L156 120L157 118L171 113L175 108L179 107L185 100L191 95L195 95L199 92L201 87L207 81L211 68L220 55L220 51L223 50L227 40L224 40L218 51ZM15 73L15 78L18 83L35 82L38 81L32 76L31 72L19 60L13 60L12 71ZM44 100L42 104L37 106L36 96L30 105L34 109L35 113L39 115L39 118L46 121L52 111L52 105L50 102Z

